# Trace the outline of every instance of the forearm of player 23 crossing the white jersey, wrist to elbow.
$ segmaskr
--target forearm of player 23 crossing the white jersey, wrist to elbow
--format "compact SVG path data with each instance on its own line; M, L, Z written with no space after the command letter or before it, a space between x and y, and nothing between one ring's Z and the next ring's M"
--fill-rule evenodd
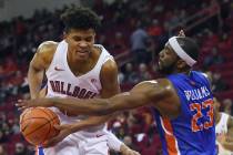
M140 95L140 94L135 94ZM129 93L121 93L110 99L52 99L53 106L68 111L72 114L85 115L108 115L119 111L125 111L133 107L143 106L145 101L141 101L135 95L130 96ZM135 100L136 99L136 100Z

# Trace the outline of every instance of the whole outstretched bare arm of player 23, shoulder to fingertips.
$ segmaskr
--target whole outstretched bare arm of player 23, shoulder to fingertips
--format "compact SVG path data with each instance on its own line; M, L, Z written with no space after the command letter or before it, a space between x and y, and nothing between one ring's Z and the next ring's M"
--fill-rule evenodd
M72 114L105 115L118 111L131 110L149 105L165 97L171 93L168 80L145 81L135 85L130 92L118 94L110 99L36 99L19 101L17 106L24 110L32 106L55 106Z

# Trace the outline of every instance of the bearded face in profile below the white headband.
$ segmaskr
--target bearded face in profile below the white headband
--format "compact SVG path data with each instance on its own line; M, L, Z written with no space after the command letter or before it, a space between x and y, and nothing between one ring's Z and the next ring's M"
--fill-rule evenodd
M178 55L166 43L164 49L159 54L159 72L163 74L171 74L176 68Z

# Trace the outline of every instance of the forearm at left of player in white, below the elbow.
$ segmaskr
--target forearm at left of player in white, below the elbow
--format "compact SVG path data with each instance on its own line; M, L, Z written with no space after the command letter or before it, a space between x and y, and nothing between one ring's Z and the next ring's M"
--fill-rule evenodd
M28 80L31 99L37 99L43 80L43 71L37 71L33 68L29 68Z

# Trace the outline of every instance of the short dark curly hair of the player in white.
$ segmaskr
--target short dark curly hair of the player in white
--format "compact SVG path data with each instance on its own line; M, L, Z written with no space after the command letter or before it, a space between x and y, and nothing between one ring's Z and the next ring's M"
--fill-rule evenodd
M93 29L97 31L101 25L101 20L95 12L89 8L74 7L65 10L61 14L61 20L64 23L64 31L70 29Z

